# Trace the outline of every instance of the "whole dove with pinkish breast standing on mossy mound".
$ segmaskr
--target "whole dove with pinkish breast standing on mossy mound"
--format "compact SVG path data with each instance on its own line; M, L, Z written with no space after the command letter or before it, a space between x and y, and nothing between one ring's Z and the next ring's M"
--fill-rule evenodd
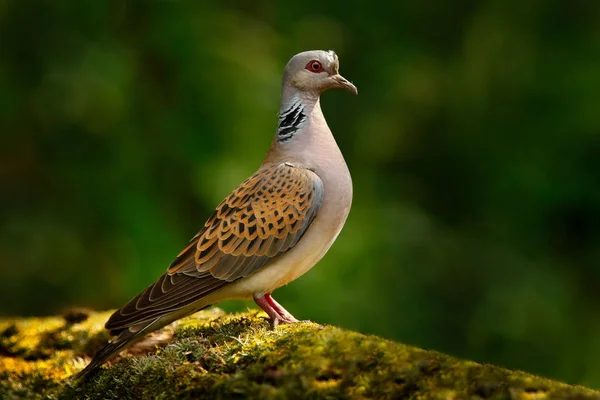
M329 250L352 204L352 179L320 105L341 88L332 50L305 51L287 63L278 126L262 164L231 192L167 271L115 311L115 336L74 379L184 316L223 300L254 299L273 327L299 322L271 293L295 280Z

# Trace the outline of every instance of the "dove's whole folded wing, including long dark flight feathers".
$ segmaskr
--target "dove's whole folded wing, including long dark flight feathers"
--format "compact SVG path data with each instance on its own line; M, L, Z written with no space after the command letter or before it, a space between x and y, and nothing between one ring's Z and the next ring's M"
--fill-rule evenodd
M113 334L188 306L291 249L314 220L323 182L288 163L259 170L217 207L154 284L106 323Z

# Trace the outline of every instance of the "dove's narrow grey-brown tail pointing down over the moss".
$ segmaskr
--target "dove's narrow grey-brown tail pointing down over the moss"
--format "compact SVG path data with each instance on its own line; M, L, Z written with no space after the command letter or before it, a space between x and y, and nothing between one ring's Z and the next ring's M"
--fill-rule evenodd
M157 326L158 325L158 326ZM104 364L104 362L108 361L111 357L118 354L119 352L125 350L127 347L133 345L139 340L143 339L144 336L165 324L160 323L160 318L147 321L142 324L134 325L130 328L123 330L119 335L111 340L109 344L107 344L104 348L102 348L92 361L80 372L73 375L71 379L78 380L88 375L90 372L94 371L96 368Z

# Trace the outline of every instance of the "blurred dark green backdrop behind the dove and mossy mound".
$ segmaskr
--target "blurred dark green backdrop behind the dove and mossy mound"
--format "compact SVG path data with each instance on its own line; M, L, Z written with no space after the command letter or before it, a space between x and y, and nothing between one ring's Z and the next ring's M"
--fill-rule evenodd
M299 318L600 388L600 3L0 1L0 314L116 308L334 49L354 179ZM225 304L227 310L252 303Z

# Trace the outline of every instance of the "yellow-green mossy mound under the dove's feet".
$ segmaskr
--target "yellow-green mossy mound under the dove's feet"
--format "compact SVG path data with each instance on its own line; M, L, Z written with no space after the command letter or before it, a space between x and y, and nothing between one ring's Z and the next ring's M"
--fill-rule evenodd
M109 313L0 321L1 398L600 399L590 389L314 323L271 329L258 312L200 312L170 343L80 382Z

